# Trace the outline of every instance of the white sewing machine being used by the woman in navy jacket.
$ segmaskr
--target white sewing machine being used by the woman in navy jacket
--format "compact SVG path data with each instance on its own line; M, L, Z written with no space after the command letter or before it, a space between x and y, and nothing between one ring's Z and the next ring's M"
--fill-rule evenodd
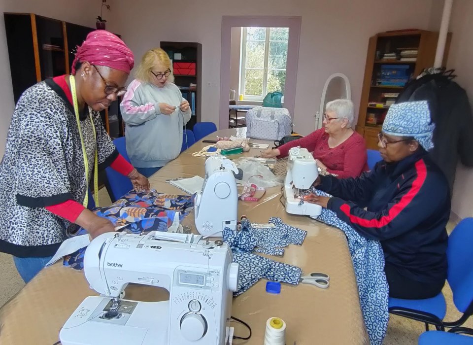
M322 207L307 202L301 202L301 189L309 189L318 177L317 163L312 154L301 147L293 147L289 150L287 161L287 173L284 180L284 201L286 212L292 214L305 214L318 217L322 213Z

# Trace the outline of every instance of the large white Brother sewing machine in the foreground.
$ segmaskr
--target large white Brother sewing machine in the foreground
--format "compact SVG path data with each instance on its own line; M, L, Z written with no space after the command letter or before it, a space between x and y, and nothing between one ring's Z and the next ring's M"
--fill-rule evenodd
M238 264L200 235L106 233L84 258L89 296L59 334L62 345L224 345ZM128 283L163 287L169 301L120 299Z

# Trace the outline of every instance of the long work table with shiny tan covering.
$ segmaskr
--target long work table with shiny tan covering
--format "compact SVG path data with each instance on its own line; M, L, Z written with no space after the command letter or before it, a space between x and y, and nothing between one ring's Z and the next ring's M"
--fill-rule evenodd
M244 136L245 132L245 128L221 130L206 138L215 138L217 134ZM203 176L204 158L193 157L192 153L205 145L202 140L198 141L159 170L150 178L152 188L164 193L182 194L165 180L196 174ZM258 154L259 149L252 149L244 155ZM286 322L288 345L294 342L297 345L369 344L344 234L308 217L287 214L280 197L280 187L270 188L261 202L239 202L238 214L246 214L254 222L267 222L270 216L278 216L284 222L306 230L307 237L302 246L289 245L283 257L267 257L299 266L304 273L325 272L330 275L330 287L320 289L310 284L282 284L281 293L273 295L265 291L266 280L260 279L234 299L232 315L247 322L253 331L249 341L235 340L234 344L263 344L266 320L273 316ZM194 214L186 217L183 224L193 226ZM139 301L168 299L169 294L160 290L130 285L126 289L126 298ZM82 271L63 267L62 263L42 270L0 309L0 344L54 344L72 311L89 295L97 293L89 289ZM236 335L247 335L244 327L237 323L234 325Z

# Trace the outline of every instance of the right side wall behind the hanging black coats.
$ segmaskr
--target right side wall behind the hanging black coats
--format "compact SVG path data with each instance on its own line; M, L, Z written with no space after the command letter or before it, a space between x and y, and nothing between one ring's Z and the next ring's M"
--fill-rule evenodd
M454 0L450 31L453 33L447 67L455 69L455 81L463 87L473 106L473 1ZM471 134L473 136L473 132ZM472 147L473 150L473 147ZM473 217L473 168L458 165L453 188L452 211L460 218Z

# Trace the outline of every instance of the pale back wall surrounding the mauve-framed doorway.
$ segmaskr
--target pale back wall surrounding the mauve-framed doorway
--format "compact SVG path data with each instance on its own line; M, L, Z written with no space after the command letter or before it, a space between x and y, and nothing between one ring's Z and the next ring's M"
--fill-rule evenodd
M161 40L202 43L203 120L218 123L222 16L302 16L294 115L295 130L308 134L315 128L313 114L327 77L335 72L348 76L358 109L368 38L386 30L428 29L434 2L438 1L182 0L176 8L169 1L113 1L108 24L122 33L137 59Z

